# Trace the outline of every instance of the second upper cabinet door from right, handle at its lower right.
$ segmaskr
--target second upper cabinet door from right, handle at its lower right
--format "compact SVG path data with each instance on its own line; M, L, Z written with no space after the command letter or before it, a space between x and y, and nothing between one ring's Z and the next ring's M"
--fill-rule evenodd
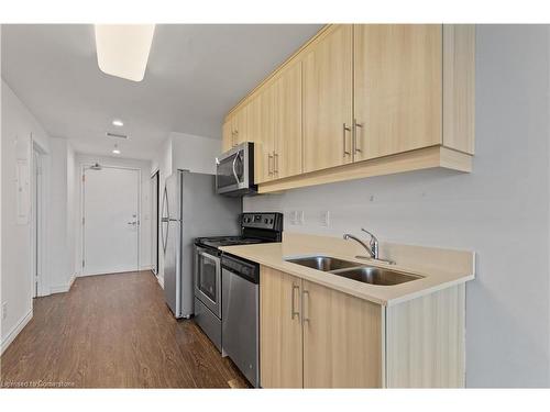
M304 171L352 162L352 26L334 25L304 57Z

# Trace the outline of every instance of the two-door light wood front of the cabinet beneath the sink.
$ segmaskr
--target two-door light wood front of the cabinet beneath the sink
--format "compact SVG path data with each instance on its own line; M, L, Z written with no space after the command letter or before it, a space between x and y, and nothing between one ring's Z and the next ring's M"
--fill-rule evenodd
M382 307L262 267L263 388L382 387Z

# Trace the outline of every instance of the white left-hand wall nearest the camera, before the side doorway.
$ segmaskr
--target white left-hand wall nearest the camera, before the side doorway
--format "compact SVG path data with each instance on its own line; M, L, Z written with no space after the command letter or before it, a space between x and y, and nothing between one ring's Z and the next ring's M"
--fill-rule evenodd
M15 212L15 141L28 143L31 165L31 135L48 151L48 136L36 119L2 80L2 263L1 303L7 303L7 316L1 322L2 349L32 315L31 225L16 223Z

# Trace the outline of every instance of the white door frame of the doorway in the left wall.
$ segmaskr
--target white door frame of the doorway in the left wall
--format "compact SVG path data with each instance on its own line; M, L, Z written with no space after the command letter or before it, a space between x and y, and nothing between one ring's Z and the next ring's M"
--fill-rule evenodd
M40 158L40 172L34 174L34 154ZM33 298L51 294L47 276L47 230L46 230L46 208L47 208L47 185L50 168L47 167L47 152L34 140L31 133L31 188L37 190L36 203L34 207L35 193L31 194L31 290ZM37 209L37 210L35 210ZM37 221L35 221L37 212ZM36 278L35 278L35 274Z

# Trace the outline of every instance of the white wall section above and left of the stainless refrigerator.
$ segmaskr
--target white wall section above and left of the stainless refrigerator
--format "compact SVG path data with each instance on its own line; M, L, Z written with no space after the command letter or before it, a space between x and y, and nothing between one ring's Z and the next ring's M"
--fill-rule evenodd
M221 141L185 133L170 133L152 162L151 175L158 170L162 214L162 196L166 178L178 169L200 174L216 174L215 158L220 154ZM158 219L160 221L160 219ZM162 241L160 242L162 243ZM158 281L164 283L164 256L162 246L158 252Z

